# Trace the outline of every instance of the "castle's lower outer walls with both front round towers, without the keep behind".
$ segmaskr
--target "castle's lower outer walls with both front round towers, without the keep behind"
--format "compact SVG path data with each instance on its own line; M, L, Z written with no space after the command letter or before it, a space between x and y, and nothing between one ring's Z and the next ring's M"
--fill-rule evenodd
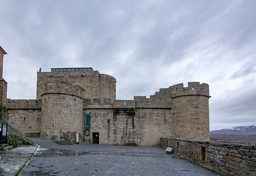
M107 94L108 89L100 92ZM114 101L84 99L86 89L65 81L45 83L40 92L39 100L8 100L9 121L24 134L30 132L27 126L46 139L60 140L63 132L79 132L83 142L92 143L92 133L98 132L100 144L150 146L159 145L161 137L209 139L207 84L178 84L159 89L150 98ZM90 114L89 136L85 136L84 114Z

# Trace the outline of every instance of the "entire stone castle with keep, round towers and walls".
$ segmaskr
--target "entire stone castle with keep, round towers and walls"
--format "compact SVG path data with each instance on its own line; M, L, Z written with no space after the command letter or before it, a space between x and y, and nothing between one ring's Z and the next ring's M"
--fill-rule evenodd
M0 73L3 55L0 48ZM2 75L1 75L2 77ZM209 86L199 82L161 88L150 98L116 100L116 79L92 68L37 72L36 99L7 99L0 80L0 103L8 124L25 135L79 143L159 145L160 138L210 141Z

